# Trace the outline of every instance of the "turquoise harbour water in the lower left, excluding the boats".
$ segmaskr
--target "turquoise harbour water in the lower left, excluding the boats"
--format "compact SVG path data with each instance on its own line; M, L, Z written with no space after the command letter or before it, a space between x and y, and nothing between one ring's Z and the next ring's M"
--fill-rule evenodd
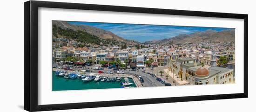
M55 76L54 71L52 72L52 78L52 91L121 88L120 83L124 82L124 78L122 78L120 82L95 82L94 80L89 82L83 82L81 79L65 79L64 77ZM129 81L134 83L133 79L129 78ZM130 86L136 87L135 84L132 84Z

